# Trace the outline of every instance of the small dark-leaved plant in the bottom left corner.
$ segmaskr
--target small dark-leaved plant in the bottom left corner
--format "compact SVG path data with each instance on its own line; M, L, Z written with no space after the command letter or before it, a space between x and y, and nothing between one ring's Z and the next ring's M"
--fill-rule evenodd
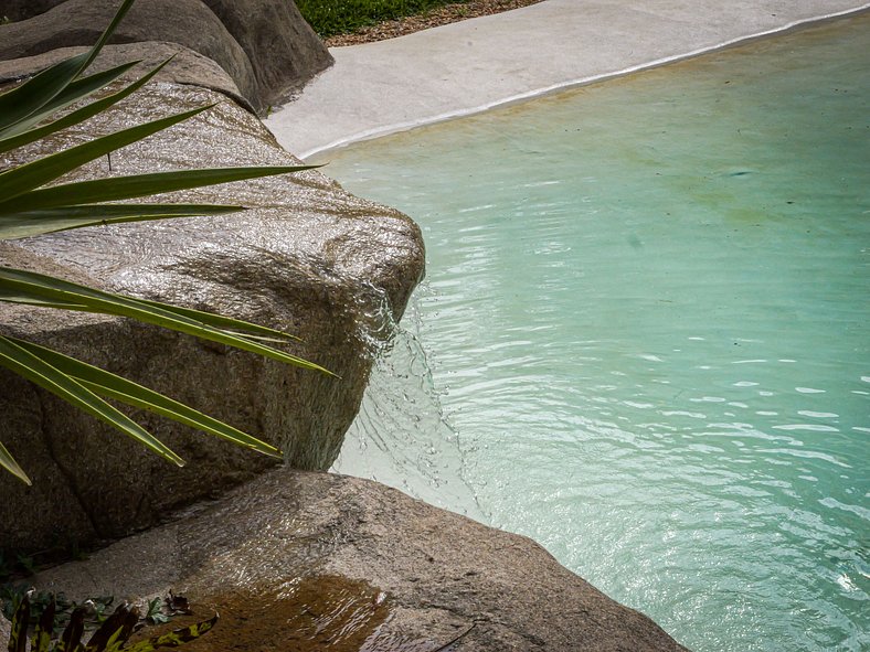
M177 629L147 641L127 644L130 637L141 628L139 610L126 602L119 605L114 613L91 635L87 644L82 642L85 634L86 607L77 607L68 622L55 635L56 603L51 599L44 609L33 612L31 596L24 595L12 617L12 632L9 637L9 652L151 652L159 648L179 648L206 633L217 622L217 614L210 620ZM32 635L29 634L31 621L35 621Z

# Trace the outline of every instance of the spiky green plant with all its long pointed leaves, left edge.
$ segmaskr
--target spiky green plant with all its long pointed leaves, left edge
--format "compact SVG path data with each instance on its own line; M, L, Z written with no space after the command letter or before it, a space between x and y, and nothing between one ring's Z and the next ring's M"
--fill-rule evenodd
M124 0L109 26L88 52L62 61L0 95L0 153L36 142L51 133L99 116L141 88L168 63L165 62L120 90L83 104L86 98L105 89L138 63L84 75L132 2L134 0ZM243 209L233 205L125 202L159 193L287 174L312 168L284 165L181 170L46 185L55 183L89 161L138 142L209 108L200 107L137 125L0 172L0 239L32 237L100 224L226 214ZM59 113L62 115L57 116ZM295 339L282 331L190 308L105 292L33 271L0 266L0 301L126 317L250 351L286 364L330 373L317 364L277 349L275 345ZM0 335L0 366L108 423L177 464L183 464L181 458L105 399L153 411L264 455L280 456L280 451L275 447L192 407L31 342ZM0 467L30 483L24 470L2 442Z

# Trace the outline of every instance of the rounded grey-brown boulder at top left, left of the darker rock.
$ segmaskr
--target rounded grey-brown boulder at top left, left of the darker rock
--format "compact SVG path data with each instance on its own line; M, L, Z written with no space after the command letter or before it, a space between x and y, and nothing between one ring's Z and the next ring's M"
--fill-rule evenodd
M67 0L29 20L0 26L0 60L59 47L93 45L112 21L115 0ZM115 31L113 43L169 41L216 62L251 104L264 106L244 50L200 0L138 0Z

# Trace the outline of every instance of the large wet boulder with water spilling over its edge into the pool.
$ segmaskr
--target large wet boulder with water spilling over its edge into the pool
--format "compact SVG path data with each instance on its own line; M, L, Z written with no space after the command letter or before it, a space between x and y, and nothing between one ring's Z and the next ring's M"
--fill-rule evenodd
M40 147L54 151L211 103L219 104L114 152L113 173L298 162L234 103L168 83L152 83L105 120ZM35 146L15 150L0 158L0 168L38 152ZM108 173L103 159L76 174ZM0 330L82 356L229 420L278 445L296 467L328 468L359 407L371 366L368 340L389 321L390 307L401 313L422 275L418 228L393 210L344 193L315 171L179 193L178 199L253 210L7 242L0 245L0 261L285 329L304 341L295 353L340 380L106 317L4 304ZM2 441L34 480L33 488L25 488L0 474L0 548L32 551L119 536L273 463L158 417L138 416L190 464L177 469L53 396L0 373Z

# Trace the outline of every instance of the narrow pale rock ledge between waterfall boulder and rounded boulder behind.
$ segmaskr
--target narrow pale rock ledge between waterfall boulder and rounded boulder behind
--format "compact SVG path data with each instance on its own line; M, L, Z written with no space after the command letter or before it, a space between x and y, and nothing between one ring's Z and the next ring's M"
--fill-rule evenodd
M88 47L59 47L43 54L0 61L0 85L18 82L60 61L81 54ZM161 43L147 41L144 43L125 43L123 45L106 45L88 68L89 73L97 73L131 61L141 63L124 75L124 79L131 82L150 72L159 64L170 61L155 77L158 82L174 82L200 86L222 93L233 98L237 104L252 113L254 107L244 98L235 82L226 72L212 60L198 52L179 45L178 43Z

